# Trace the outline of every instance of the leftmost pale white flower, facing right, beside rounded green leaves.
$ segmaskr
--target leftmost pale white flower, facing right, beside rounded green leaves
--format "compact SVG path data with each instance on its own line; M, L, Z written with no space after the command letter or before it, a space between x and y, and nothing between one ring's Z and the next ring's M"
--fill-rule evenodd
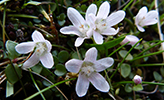
M33 42L23 42L16 45L15 49L20 54L26 54L34 51L32 56L23 64L23 68L30 68L39 63L46 68L51 68L54 65L53 56L50 53L52 48L51 43L45 40L39 31L34 31L32 34Z

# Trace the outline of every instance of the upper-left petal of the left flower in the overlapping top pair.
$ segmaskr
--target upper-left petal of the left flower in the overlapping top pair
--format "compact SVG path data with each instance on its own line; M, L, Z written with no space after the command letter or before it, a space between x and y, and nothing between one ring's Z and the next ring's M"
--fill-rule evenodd
M85 23L85 20L81 16L81 14L72 7L68 8L67 15L68 15L69 20L72 22L72 24L77 28L79 28L81 25Z

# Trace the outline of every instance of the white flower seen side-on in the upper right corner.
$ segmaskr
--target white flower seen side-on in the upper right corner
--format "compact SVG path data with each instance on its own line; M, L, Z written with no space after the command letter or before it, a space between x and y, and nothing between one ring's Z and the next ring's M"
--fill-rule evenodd
M155 10L151 10L148 12L147 7L142 7L138 14L135 17L135 25L137 26L138 30L144 32L144 26L156 24L158 17L158 12Z

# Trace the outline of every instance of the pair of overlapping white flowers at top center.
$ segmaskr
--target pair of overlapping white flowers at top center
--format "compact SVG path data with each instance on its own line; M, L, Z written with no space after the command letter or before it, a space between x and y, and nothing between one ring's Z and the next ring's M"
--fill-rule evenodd
M97 44L102 44L102 35L116 35L119 28L116 30L112 26L121 22L125 17L125 12L122 10L108 16L109 11L110 5L107 1L101 4L98 12L97 6L91 4L84 19L76 9L69 7L67 15L73 26L65 26L60 29L60 32L79 36L75 41L76 47L79 47L84 39L89 39L91 36Z

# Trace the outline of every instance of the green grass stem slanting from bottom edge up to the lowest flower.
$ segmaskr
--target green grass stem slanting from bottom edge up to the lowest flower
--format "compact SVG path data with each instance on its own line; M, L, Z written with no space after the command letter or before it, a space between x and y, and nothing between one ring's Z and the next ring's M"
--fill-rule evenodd
M51 85L51 86L49 86L49 87L47 87L47 88L45 88L45 89L42 89L42 90L39 91L39 92L36 92L35 94L29 96L28 98L26 98L26 99L24 99L24 100L30 100L30 99L36 97L37 95L39 95L40 93L43 93L43 92L45 92L45 91L47 91L47 90L49 90L49 89L51 89L51 88L53 88L53 87L55 87L55 86L57 86L57 85L60 85L60 84L62 84L62 83L65 83L65 82L71 81L71 80L75 80L75 79L76 79L76 78L72 78L72 79L69 79L69 80L60 81L60 82L58 82L58 83L56 83L56 84L53 84L53 85Z

